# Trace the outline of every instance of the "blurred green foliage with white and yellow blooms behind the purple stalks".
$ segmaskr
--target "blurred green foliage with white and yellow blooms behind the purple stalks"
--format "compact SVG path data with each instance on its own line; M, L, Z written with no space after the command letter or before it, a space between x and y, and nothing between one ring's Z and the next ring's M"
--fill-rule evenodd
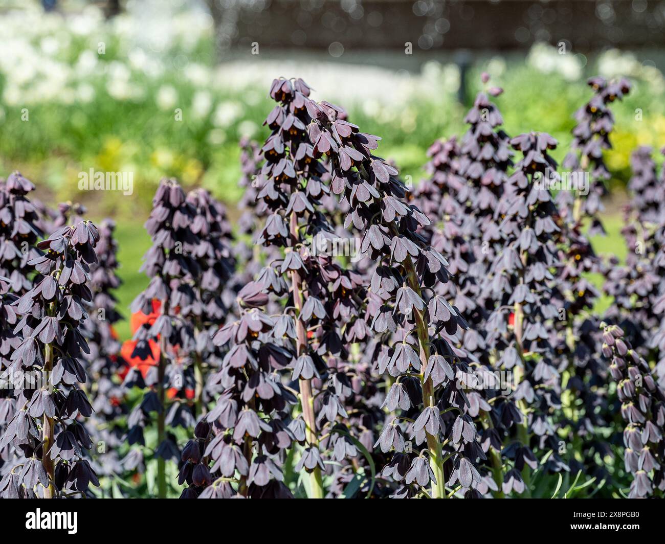
M11 134L0 138L0 175L21 168L55 198L84 204L91 197L80 194L77 177L90 168L133 172L134 209L148 207L162 176L237 202L237 141L242 135L261 139L271 108L263 89L282 68L263 59L244 71L247 63L216 65L212 30L194 12L165 17L158 35L132 15L106 22L90 8L76 16L82 22L74 25L60 15L23 13L29 20L21 19L19 26L18 15L0 14L0 35L12 51L21 51L16 59L0 61L0 130ZM164 43L154 47L157 38ZM537 45L525 61L479 61L467 74L466 104L457 101L458 68L436 62L414 66L408 76L328 63L325 76L319 70L318 81L307 80L317 88L328 82L325 78L342 80L349 69L362 74L359 88L349 92L337 85L339 94L329 98L347 108L349 119L364 130L389 130L382 153L417 183L428 146L464 131L464 113L479 89L481 70L505 88L497 105L507 132L552 134L561 144L554 156L561 160L575 109L590 96L582 80L620 65L635 88L614 107L616 151L608 155L608 164L617 176L613 183L625 184L628 150L665 140L662 74L612 51L594 62L578 57ZM318 66L299 62L299 73ZM638 110L642 120L636 119ZM98 205L118 213L128 202L105 198Z

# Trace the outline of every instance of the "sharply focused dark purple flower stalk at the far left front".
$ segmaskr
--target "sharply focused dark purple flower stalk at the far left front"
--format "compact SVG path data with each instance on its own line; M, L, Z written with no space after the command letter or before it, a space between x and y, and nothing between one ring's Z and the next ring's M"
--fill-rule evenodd
M81 333L88 319L85 305L92 300L88 287L90 265L97 262L94 247L99 233L90 221L61 227L39 249L45 255L31 259L42 275L35 287L16 302L22 316L15 327L23 342L12 354L12 370L26 380L41 374L39 388L30 382L17 392L17 412L3 442L15 440L26 453L23 470L14 485L31 493L43 487L43 497L82 495L88 485L99 485L84 458L92 441L82 418L92 407L78 384L86 382L80 364L88 344Z

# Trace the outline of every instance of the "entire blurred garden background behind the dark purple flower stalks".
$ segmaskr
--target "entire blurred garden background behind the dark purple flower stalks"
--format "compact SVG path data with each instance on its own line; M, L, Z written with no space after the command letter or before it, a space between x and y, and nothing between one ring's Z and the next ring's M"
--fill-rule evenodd
M505 130L553 134L559 160L587 77L626 76L608 154L618 232L630 151L665 144L664 26L664 0L0 0L0 177L116 218L126 308L162 176L237 216L238 140L265 138L275 77L346 108L417 182L430 144L464 133L482 71L505 90ZM134 193L80 192L90 168L132 172Z

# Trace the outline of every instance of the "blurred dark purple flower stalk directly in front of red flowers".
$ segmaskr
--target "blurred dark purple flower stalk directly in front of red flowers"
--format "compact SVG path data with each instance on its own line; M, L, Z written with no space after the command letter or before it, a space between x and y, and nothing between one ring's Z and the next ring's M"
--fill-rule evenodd
M156 460L158 497L166 497L166 461L180 457L176 436L167 426L194 427L194 409L188 397L194 396L196 378L191 354L196 350L194 324L190 313L196 305L194 285L200 265L196 255L200 239L192 230L196 225L196 207L174 180L162 180L153 199L153 209L146 229L153 241L144 255L142 271L150 285L132 303L132 311L150 315L154 302L160 315L139 327L134 334L132 356L156 362L146 373L131 370L125 378L128 386L144 385L140 404L130 414L130 444L145 444L143 430L155 413L157 432L152 459ZM167 412L168 410L168 412ZM134 464L136 464L134 462Z

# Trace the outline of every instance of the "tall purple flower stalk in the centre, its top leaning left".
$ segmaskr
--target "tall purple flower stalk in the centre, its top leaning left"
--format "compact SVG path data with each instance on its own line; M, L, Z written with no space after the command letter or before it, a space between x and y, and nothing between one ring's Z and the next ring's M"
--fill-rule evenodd
M438 335L444 328L452 334L467 325L443 297L424 295L436 283L448 281L448 262L416 233L429 220L404 202L407 191L397 170L373 154L380 138L340 120L340 108L328 102L310 100L307 110L312 118L307 130L313 152L328 156L332 190L349 205L345 225L353 225L362 235L361 253L378 261L370 283L370 291L378 297L371 328L388 341L393 335L396 340L378 360L380 372L397 378L386 398L388 408L408 411L413 407L410 413L417 416L415 420L396 416L384 427L376 445L396 453L383 474L406 484L396 496L425 492L443 498L448 495L444 466L451 460L450 485L459 481L460 487L469 488L480 480L473 467L478 453L473 452L469 460L462 448L445 457L442 449L446 428L441 414L449 408L444 388L454 389L456 384L446 360L450 346ZM401 422L410 422L416 444L425 443L413 458L402 437ZM453 430L446 439L455 444L475 440L473 424L464 438Z

